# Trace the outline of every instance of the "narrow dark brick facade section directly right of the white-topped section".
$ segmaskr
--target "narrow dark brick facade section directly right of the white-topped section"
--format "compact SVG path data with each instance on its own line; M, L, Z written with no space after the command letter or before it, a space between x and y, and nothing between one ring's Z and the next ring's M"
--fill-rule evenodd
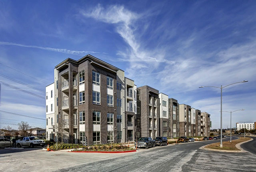
M176 99L170 98L169 101L169 137L175 138L180 136L179 123L179 103Z

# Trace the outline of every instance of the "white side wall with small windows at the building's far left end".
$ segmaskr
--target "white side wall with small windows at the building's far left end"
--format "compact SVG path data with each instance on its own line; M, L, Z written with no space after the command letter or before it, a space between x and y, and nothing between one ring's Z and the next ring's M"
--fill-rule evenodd
M55 127L55 96L54 96L54 83L47 85L46 92L46 139L54 139L54 127Z

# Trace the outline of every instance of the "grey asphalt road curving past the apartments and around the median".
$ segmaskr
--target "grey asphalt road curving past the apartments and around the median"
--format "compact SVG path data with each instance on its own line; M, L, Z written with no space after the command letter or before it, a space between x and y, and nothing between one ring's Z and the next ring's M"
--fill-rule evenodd
M234 137L236 139L237 137ZM229 140L229 137L223 141ZM252 153L226 153L199 149L220 140L184 143L140 149L134 154L109 158L56 170L57 172L148 172L148 171L256 171Z

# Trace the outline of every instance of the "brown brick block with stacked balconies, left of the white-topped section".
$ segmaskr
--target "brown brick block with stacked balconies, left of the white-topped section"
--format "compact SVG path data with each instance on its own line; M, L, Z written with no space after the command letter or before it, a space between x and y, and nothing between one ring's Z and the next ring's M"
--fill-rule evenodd
M159 91L148 85L137 89L140 90L141 136L155 138L160 135Z

